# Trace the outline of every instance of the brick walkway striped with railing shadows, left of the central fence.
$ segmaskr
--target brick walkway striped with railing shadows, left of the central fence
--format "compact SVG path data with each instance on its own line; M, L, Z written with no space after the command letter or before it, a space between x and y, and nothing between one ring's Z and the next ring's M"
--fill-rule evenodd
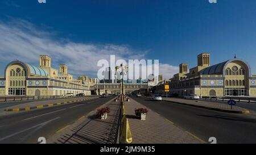
M120 102L113 99L99 108L109 106L110 114L106 120L98 119L97 109L77 122L59 129L55 135L47 139L49 144L115 144L119 128Z

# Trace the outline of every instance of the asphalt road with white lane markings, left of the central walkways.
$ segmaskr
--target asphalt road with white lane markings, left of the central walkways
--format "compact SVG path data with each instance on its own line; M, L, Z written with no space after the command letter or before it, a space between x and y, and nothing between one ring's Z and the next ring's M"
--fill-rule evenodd
M0 143L38 143L39 137L49 137L57 130L72 124L90 111L108 102L108 98L97 98L22 112L0 117Z

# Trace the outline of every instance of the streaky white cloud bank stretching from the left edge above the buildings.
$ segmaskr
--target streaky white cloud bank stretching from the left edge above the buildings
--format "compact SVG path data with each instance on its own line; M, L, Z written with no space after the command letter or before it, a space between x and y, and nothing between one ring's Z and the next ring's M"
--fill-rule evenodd
M144 58L148 51L136 51L127 45L114 44L82 44L72 41L58 41L55 32L40 30L30 22L22 19L11 19L10 22L0 21L0 64L20 61L38 65L39 55L49 55L55 68L59 64L68 64L69 73L79 76L90 73L96 76L97 62L100 59ZM168 64L159 64L160 74L170 78L177 68ZM2 68L1 68L2 69Z

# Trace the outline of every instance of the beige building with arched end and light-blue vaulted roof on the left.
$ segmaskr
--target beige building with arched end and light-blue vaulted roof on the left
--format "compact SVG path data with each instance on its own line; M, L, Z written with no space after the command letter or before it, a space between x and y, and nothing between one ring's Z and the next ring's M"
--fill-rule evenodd
M0 95L90 95L90 87L82 80L73 79L68 65L61 64L57 70L51 67L51 57L41 55L39 66L16 60L10 62L0 77Z

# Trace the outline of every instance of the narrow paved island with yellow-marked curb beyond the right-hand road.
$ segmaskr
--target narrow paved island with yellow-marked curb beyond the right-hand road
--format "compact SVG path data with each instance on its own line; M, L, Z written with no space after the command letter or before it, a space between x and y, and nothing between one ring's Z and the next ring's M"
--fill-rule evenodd
M215 110L215 111L230 112L230 113L237 113L237 114L250 114L249 110L246 110L245 108L241 108L238 106L232 106L232 109L231 109L231 106L228 105L228 103L223 104L223 103L217 103L217 102L210 102L206 100L192 100L192 99L164 98L164 97L163 97L163 100L166 100L172 103L206 108L206 109Z

